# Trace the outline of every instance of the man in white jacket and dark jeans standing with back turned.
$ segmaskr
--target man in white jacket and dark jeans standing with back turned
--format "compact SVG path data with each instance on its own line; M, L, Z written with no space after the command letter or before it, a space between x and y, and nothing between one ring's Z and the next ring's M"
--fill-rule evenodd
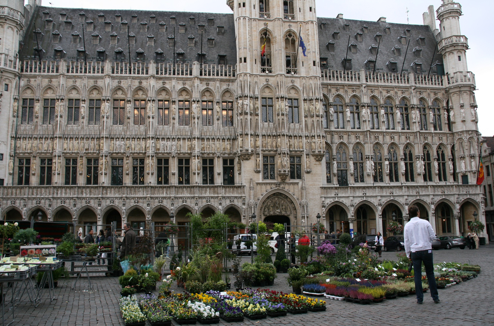
M421 219L418 207L411 205L408 208L410 220L405 224L403 235L405 237L405 251L407 257L412 259L413 273L415 277L415 294L417 303L422 304L424 293L422 291L422 262L425 266L425 274L429 282L429 289L434 303L439 303L436 278L434 277L434 263L432 259L432 241L436 234L429 221Z

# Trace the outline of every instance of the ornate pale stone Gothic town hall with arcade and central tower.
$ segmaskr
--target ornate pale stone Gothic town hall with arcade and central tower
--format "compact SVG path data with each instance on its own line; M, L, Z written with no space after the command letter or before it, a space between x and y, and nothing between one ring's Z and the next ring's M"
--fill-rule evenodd
M406 25L317 17L314 0L228 0L233 14L4 2L7 220L320 213L330 231L386 235L411 204L438 235L485 220L459 3Z

